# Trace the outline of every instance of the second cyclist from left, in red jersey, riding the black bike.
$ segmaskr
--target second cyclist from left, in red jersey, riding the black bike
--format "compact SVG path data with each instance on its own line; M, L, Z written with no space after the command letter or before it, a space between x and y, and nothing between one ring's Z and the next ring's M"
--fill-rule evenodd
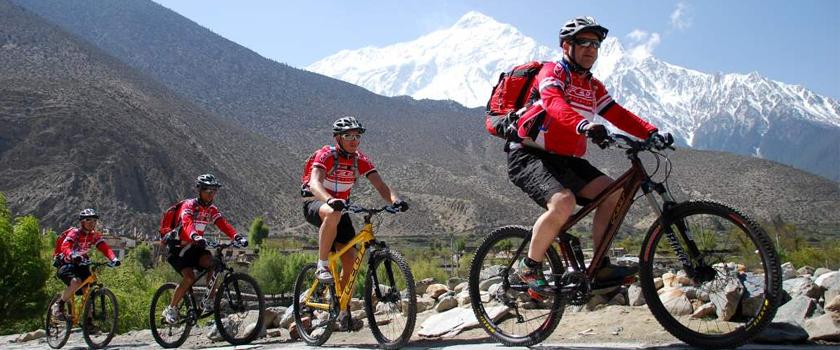
M216 192L222 184L212 174L200 175L195 181L198 190L198 197L182 201L177 211L177 219L180 225L175 227L173 233L178 235L178 242L173 244L169 250L167 261L172 268L181 274L181 283L172 295L169 306L163 310L163 318L168 323L177 322L177 305L181 302L187 287L195 281L193 268L207 269L210 267L211 254L206 249L207 241L204 240L204 230L207 225L215 224L225 235L243 247L248 246L245 236L236 233L236 229L222 216L213 204ZM170 238L172 239L172 238ZM210 275L207 274L209 283ZM204 312L213 308L213 295L205 299L201 307Z

